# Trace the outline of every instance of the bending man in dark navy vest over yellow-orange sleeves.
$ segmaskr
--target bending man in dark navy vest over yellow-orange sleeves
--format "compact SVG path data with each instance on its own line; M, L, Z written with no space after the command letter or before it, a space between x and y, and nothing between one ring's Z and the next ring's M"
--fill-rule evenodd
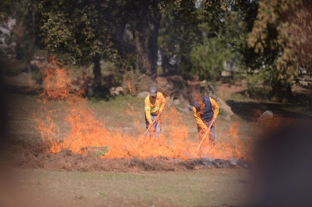
M219 113L219 105L214 99L207 96L201 96L196 99L192 109L197 123L199 139L201 140L204 138L210 124L215 122ZM210 140L213 145L215 145L215 123L213 123L211 127Z

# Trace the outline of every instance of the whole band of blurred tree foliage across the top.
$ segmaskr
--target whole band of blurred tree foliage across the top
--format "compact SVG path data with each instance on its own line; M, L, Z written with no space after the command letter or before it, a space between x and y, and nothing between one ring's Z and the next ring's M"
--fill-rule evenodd
M231 62L259 70L253 74L277 90L289 88L300 69L311 74L311 11L312 0L0 2L2 20L14 16L23 25L27 59L37 47L67 64L93 62L97 84L100 60L114 63L121 74L213 81Z

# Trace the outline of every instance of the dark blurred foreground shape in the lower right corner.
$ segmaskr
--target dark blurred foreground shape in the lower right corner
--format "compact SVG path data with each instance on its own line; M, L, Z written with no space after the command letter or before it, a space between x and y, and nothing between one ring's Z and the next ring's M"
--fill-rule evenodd
M312 206L312 121L266 132L254 152L248 206Z

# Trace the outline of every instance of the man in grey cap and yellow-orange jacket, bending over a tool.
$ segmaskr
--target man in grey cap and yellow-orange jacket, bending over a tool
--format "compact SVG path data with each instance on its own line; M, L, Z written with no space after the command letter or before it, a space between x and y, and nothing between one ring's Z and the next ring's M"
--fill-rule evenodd
M165 108L166 100L162 93L157 92L157 88L152 86L150 88L150 95L145 98L145 122L146 128L148 129L153 121L157 120L151 126L151 129L155 132L155 137L158 138L158 133L160 132L160 120L159 116ZM151 131L151 130L150 130ZM150 136L149 131L146 134L147 137Z

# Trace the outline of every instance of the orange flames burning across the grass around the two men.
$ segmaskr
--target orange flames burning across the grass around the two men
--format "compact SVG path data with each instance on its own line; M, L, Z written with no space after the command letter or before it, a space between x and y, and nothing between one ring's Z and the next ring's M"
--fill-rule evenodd
M238 137L237 122L230 127L227 136L217 139L215 147L209 144L207 138L198 152L199 140L189 138L189 128L181 121L173 107L161 117L164 133L159 135L159 140L154 137L144 137L144 129L139 129L139 121L134 122L137 130L141 132L137 136L121 133L118 130L108 130L103 121L96 119L95 113L83 98L83 88L78 91L72 89L68 71L54 59L50 60L50 66L43 70L45 87L40 100L42 115L35 115L37 128L43 141L50 146L50 153L59 153L62 149L68 149L74 153L85 154L107 146L109 151L105 156L101 156L103 158L157 156L180 159L203 156L223 159L249 158L251 147ZM61 107L58 110L49 109L56 100ZM126 112L128 116L139 113L130 103L128 106ZM62 121L57 121L59 119Z

